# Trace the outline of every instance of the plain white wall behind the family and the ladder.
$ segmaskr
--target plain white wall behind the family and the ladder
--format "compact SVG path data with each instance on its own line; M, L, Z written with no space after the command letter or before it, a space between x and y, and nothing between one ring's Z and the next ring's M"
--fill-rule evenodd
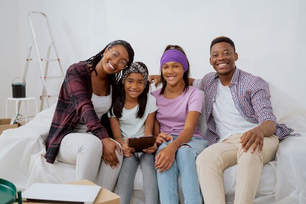
M27 49L32 42L27 19L29 11L42 11L48 16L65 70L72 63L93 56L110 41L123 39L131 43L135 60L144 62L151 74L159 73L159 60L165 46L180 45L185 49L190 61L192 77L201 78L205 73L214 71L209 64L209 46L212 39L225 35L235 42L239 54L236 65L239 68L262 76L306 106L305 0L0 2L1 10L4 11L4 14L0 14L1 28L10 26L13 31L0 33L1 42L3 41L6 47L0 48L0 56L4 54L6 59L0 63L9 64L14 59L14 66L20 68L13 74L0 76L3 84L1 107L5 99L11 96L11 80L23 74ZM5 8L2 4L5 4ZM37 33L43 35L43 23L37 24ZM40 49L45 55L47 38L40 39ZM2 73L7 64L1 66ZM38 66L31 62L30 68L26 79L27 96L35 96L38 99L42 88ZM53 92L58 91L60 82L57 84L52 86ZM11 113L13 112L12 108ZM4 113L3 107L0 109L0 117L3 117Z

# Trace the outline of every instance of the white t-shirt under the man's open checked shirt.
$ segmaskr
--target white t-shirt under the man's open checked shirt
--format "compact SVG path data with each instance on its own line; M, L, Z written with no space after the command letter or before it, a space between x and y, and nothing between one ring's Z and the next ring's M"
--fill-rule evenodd
M219 141L236 133L245 133L258 124L252 123L241 116L237 110L228 86L223 86L218 79L218 88L216 100L213 106L212 114L216 123Z

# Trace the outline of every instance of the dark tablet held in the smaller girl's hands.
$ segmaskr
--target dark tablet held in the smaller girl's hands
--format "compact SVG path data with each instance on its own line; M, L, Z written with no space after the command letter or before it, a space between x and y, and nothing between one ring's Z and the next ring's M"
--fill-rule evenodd
M144 149L154 146L155 141L154 136L130 137L129 147L134 148L134 152L143 152Z

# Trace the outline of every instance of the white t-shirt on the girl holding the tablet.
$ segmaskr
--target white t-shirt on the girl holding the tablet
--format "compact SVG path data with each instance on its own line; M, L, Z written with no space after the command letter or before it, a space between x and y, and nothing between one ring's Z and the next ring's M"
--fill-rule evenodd
M122 117L118 118L118 120L119 120L121 135L124 140L126 140L126 137L144 136L145 122L148 115L150 113L155 112L158 109L156 105L156 99L154 98L154 96L149 93L147 94L147 96L148 96L147 106L142 118L136 118L139 104L130 110L123 108ZM110 116L110 113L108 113L108 116L115 117L114 115Z

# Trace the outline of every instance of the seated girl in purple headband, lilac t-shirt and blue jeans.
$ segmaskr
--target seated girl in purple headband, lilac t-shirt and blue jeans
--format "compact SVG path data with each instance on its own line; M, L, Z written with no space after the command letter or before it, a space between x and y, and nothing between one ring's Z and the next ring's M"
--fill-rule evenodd
M155 168L161 204L178 204L177 180L185 204L202 204L196 158L207 147L197 129L202 94L188 85L189 62L184 50L168 45L160 60L162 88L152 94L158 110L154 135L159 145Z

